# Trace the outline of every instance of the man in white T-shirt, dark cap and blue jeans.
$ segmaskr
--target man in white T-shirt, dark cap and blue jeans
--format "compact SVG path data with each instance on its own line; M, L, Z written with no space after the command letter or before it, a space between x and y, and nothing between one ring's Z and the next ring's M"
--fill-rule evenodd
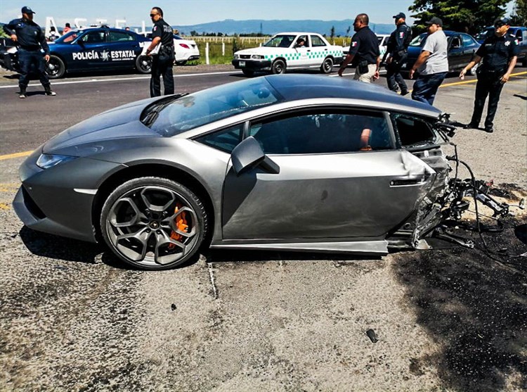
M448 73L448 42L443 32L443 21L434 16L428 22L428 36L421 54L410 70L410 79L416 70L419 77L414 83L412 99L434 104L436 92Z

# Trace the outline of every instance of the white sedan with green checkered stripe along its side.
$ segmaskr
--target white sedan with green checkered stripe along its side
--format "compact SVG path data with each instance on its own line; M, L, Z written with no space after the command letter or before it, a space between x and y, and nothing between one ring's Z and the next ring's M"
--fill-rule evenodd
M320 68L330 73L342 63L342 46L331 45L315 32L280 32L262 46L234 53L234 68L247 76L266 71L285 73L293 68Z

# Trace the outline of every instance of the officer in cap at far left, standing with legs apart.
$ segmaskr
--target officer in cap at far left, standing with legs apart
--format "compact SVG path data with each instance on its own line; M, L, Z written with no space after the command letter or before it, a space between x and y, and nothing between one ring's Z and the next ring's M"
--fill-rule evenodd
M34 66L37 71L40 82L44 86L46 95L56 95L51 91L48 75L46 75L46 63L49 61L49 46L46 42L46 36L37 23L33 22L34 11L30 7L22 7L22 18L11 20L4 25L4 31L11 35L11 39L18 43L18 63L20 65L20 98L26 98L27 84L30 82L29 74ZM44 58L42 56L44 51Z

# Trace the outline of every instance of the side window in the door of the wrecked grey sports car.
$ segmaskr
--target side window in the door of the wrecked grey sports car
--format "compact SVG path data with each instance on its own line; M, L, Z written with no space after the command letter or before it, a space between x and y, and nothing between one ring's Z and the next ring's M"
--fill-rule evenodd
M253 122L249 136L268 154L350 153L392 148L382 113L324 110Z

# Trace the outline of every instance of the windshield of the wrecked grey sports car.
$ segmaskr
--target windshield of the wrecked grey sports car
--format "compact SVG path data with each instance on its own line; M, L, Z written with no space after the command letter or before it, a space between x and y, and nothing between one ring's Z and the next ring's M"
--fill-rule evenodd
M141 116L143 124L164 137L282 100L265 77L223 84L171 99L174 97L148 106Z

